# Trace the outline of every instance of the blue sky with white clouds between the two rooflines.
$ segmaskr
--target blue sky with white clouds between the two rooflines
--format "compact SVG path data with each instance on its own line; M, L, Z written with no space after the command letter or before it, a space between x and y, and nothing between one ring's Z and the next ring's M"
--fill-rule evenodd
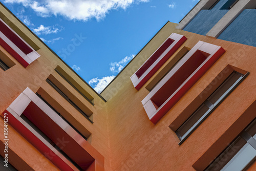
M1 0L100 92L169 20L198 0Z

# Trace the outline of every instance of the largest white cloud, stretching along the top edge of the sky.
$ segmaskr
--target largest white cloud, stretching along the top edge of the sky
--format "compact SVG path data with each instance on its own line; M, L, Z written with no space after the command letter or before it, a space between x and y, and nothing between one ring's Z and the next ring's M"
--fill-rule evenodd
M100 20L111 10L126 9L132 4L149 0L5 0L4 3L19 3L32 8L38 15L47 17L61 15L73 20Z

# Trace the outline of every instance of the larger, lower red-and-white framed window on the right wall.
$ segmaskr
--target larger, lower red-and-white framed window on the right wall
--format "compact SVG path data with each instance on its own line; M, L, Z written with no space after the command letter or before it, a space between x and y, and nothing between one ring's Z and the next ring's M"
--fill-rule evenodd
M148 118L156 124L224 52L199 41L141 101Z

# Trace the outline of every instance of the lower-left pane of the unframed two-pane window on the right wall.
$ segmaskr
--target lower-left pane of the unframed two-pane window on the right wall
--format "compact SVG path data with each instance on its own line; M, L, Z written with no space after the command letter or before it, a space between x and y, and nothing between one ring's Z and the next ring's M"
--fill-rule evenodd
M188 120L182 124L182 126L177 130L180 134L181 139L184 139L210 112L210 109L202 104L200 108L191 115Z

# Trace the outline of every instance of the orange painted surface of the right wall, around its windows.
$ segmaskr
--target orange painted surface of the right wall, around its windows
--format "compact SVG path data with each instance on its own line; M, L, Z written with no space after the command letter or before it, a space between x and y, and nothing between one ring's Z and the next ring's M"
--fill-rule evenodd
M173 32L187 37L185 47L193 48L201 40L221 46L226 52L154 125L141 100L148 94L147 83L164 66L139 91L133 87L130 76ZM192 165L207 150L217 156L256 116L253 112L244 112L256 99L255 53L254 47L176 30L174 24L168 23L102 93L108 99L111 170L195 170ZM184 143L178 145L176 134L168 126L227 65L250 74Z

